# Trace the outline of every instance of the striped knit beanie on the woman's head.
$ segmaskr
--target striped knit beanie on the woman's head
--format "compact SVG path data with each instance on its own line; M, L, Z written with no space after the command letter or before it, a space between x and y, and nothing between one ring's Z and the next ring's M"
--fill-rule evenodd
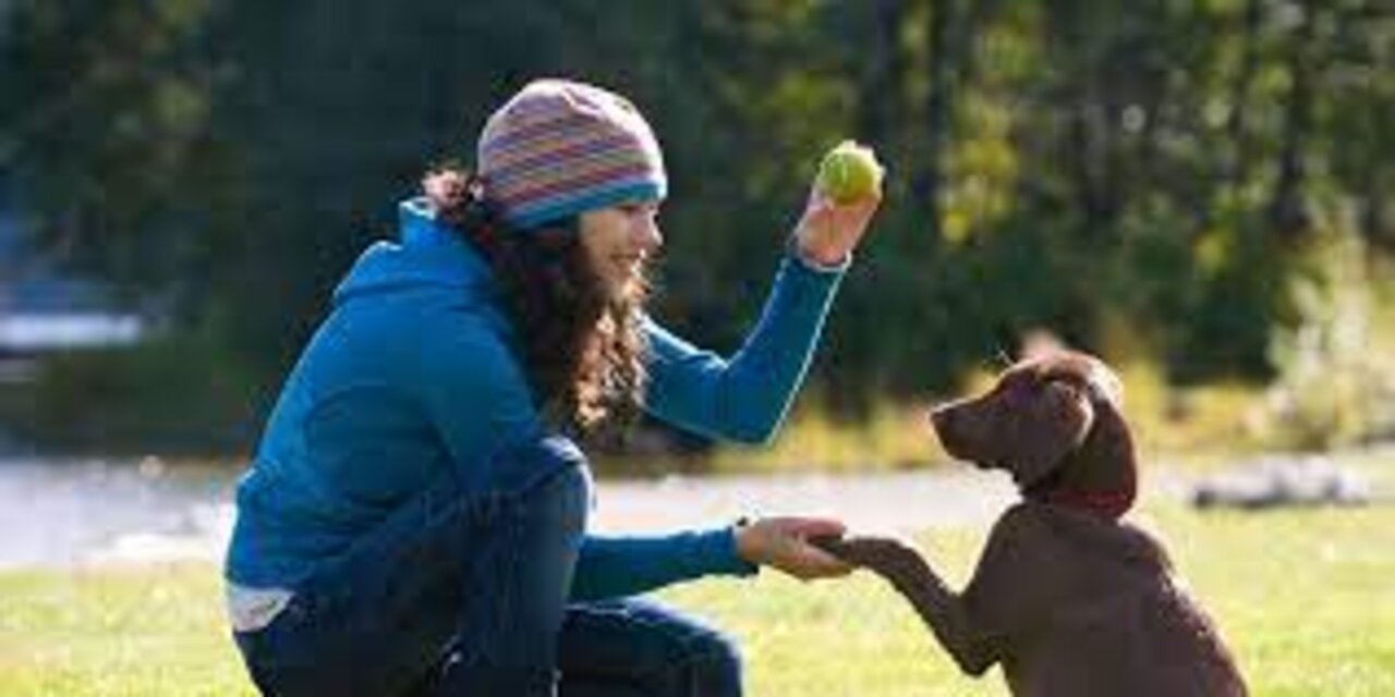
M565 79L530 82L484 124L484 195L522 229L625 201L658 201L664 158L625 98Z

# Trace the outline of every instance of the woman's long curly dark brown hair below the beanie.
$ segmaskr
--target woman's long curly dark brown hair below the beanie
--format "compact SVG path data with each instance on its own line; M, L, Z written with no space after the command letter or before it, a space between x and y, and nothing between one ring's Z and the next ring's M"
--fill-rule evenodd
M438 219L494 270L544 418L582 431L633 421L646 382L647 283L640 279L618 297L607 293L580 244L578 217L516 230L460 167L430 170L423 190Z

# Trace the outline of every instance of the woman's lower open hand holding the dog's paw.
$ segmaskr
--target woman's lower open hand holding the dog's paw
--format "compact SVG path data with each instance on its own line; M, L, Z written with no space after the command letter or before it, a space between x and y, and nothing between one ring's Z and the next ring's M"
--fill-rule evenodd
M805 581L847 576L852 566L809 544L809 538L838 537L844 530L843 523L829 519L759 519L737 527L737 553Z

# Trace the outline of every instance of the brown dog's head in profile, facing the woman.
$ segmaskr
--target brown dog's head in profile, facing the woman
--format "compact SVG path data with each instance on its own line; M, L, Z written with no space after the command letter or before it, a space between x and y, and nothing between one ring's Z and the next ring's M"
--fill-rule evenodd
M1133 505L1137 467L1122 408L1103 361L1062 350L1014 364L930 422L953 457L1006 470L1025 496L1117 517Z

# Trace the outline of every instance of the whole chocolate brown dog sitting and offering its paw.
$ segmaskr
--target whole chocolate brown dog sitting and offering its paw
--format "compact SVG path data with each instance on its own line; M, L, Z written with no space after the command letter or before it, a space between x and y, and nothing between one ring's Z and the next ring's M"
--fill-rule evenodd
M816 544L887 579L964 672L1002 664L1014 696L1247 694L1162 545L1119 520L1137 481L1120 392L1099 360L1056 351L932 411L951 456L1006 470L1024 499L993 526L964 592L896 539Z

